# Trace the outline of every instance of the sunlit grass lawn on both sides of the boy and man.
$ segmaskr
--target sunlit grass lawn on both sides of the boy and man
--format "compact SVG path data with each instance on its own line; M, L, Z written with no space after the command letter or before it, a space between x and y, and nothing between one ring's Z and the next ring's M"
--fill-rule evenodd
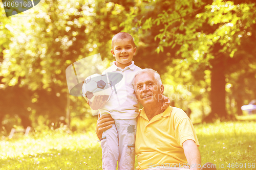
M195 129L202 164L212 162L218 169L255 169L256 122L201 124ZM102 169L100 143L94 132L68 134L58 129L27 137L15 135L0 141L1 170Z

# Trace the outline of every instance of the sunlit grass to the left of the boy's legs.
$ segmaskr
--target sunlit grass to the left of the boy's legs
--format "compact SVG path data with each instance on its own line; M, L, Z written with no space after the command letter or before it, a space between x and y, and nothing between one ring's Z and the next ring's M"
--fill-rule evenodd
M49 130L0 142L0 169L102 169L95 133Z

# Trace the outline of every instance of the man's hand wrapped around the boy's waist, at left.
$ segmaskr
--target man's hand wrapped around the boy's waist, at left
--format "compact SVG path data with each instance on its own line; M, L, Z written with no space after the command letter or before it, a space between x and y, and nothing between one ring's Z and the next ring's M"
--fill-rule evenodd
M112 124L114 123L115 121L110 114L103 114L102 116L98 114L97 126L95 130L98 138L101 139L102 133L105 130L110 129L113 126Z

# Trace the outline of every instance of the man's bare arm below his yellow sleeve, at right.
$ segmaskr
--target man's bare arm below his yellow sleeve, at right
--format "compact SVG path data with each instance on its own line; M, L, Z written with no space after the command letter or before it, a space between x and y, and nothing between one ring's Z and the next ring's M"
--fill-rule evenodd
M193 140L186 140L182 143L190 170L201 169L201 156L196 143ZM200 164L200 166L198 166Z

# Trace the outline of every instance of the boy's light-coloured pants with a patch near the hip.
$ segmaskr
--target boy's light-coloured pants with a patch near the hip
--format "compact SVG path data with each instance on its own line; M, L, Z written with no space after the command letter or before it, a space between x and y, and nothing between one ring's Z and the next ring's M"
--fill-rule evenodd
M102 134L102 168L105 170L118 169L134 170L135 136L137 119L115 119L115 124Z

